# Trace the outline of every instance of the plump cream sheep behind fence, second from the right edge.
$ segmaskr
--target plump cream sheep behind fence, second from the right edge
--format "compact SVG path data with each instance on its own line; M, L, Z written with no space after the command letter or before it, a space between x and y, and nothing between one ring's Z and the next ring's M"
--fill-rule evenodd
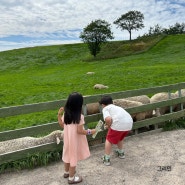
M171 99L177 98L177 95L175 93L171 93L170 98ZM161 92L161 93L154 94L150 98L150 103L156 103L156 102L165 101L168 99L169 99L169 94L167 92ZM175 110L175 109L176 109L176 105L172 107L172 110ZM170 106L156 108L154 110L154 116L163 115L169 112L170 112Z

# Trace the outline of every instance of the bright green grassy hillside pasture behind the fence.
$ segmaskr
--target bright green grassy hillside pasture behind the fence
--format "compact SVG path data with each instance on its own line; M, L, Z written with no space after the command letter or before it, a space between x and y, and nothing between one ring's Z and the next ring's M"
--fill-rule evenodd
M96 59L85 44L0 52L0 107L63 99L72 91L93 95L185 81L185 35L160 39L110 42ZM97 83L109 88L93 89ZM0 122L8 129L7 120ZM23 122L16 120L10 128Z

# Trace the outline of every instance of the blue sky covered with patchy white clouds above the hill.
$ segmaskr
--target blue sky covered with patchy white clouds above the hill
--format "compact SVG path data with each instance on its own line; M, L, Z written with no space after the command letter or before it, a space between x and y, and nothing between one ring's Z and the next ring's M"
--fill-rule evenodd
M169 28L185 22L185 0L0 0L0 51L82 42L80 33L92 21L111 24L114 40L129 40L113 22L132 11L144 15L144 28Z

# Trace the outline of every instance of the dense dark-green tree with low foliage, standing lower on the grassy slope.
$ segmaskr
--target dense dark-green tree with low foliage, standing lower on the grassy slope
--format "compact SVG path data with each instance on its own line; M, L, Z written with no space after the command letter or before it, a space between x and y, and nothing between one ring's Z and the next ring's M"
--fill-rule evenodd
M90 53L96 57L101 50L101 44L114 37L110 29L110 24L98 19L92 21L83 29L80 38L84 43L87 43Z

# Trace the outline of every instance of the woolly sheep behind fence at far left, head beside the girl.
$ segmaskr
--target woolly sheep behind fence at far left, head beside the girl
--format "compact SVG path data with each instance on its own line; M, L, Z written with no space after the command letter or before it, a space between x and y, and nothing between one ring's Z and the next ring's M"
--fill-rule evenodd
M0 142L0 154L13 152L46 143L59 142L63 140L63 131L56 130L44 137L22 137Z

